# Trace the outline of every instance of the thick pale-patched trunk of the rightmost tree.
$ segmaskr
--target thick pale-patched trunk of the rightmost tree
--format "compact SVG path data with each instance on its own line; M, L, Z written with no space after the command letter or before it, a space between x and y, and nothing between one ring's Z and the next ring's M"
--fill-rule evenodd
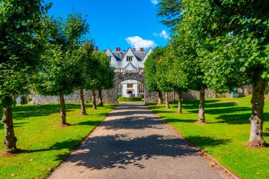
M256 76L253 77L253 94L251 99L252 114L249 119L251 121L251 136L249 138L248 146L265 146L265 140L263 139L265 86L265 80L257 73Z

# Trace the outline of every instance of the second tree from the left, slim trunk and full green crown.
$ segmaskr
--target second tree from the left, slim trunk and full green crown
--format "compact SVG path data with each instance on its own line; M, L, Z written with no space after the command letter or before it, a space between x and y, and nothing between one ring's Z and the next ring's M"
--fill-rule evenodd
M68 125L64 96L74 91L80 83L79 46L88 33L88 23L81 13L70 13L67 19L47 18L50 47L44 58L46 64L38 71L35 89L45 96L59 96L61 123Z

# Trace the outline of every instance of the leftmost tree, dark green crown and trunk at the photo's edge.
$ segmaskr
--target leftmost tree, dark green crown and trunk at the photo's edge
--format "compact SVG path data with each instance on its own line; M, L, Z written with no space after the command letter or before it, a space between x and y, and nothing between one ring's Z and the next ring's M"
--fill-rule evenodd
M17 151L12 106L29 93L30 76L42 62L42 18L49 5L41 1L3 0L0 4L0 105L6 151Z

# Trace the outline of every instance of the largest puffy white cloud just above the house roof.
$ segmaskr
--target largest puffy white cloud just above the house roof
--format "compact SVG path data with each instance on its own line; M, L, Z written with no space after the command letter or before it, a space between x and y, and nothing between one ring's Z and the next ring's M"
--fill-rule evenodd
M149 48L149 47L156 47L156 43L153 40L144 40L142 37L134 36L134 37L127 37L125 38L128 44L130 44L132 47L135 47L137 49L139 48Z

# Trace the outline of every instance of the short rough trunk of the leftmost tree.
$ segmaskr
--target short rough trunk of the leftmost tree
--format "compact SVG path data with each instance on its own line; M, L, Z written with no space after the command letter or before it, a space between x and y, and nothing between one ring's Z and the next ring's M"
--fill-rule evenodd
M6 151L8 153L15 153L17 151L17 138L15 137L12 117L12 107L3 108L3 117L5 128L5 139L4 144L6 145Z

